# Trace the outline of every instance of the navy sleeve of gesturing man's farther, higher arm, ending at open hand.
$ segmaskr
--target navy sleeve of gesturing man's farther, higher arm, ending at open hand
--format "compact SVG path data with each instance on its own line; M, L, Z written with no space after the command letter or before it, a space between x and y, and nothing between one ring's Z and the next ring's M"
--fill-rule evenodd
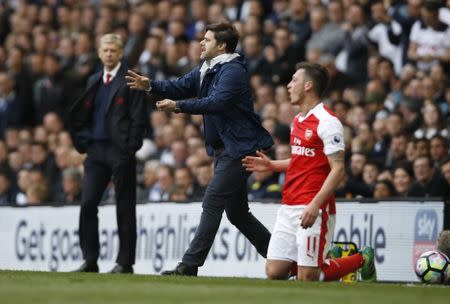
M150 93L159 94L169 99L187 99L197 96L197 87L200 85L199 67L186 75L174 80L153 80Z

